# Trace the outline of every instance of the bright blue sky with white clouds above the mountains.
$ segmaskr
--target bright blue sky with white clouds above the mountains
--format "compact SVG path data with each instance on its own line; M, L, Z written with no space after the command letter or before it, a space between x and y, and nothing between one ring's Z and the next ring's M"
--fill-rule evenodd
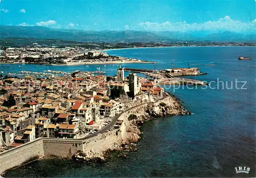
M0 0L0 25L256 32L256 0Z

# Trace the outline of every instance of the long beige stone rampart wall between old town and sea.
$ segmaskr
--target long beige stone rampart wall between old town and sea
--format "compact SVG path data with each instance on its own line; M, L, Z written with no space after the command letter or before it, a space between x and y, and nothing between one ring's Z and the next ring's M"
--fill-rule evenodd
M119 119L123 119L123 123L118 130L113 130L99 136L85 140L37 138L34 141L1 152L0 174L8 169L20 166L25 162L36 158L51 156L71 158L78 150L82 150L88 154L94 154L113 149L127 135L126 126L130 124L128 120L130 114L136 113L137 111L143 113L148 106L153 106L153 109L157 111L161 102L166 102L167 104L172 105L172 99L168 96L155 103L145 103L134 107L120 115Z

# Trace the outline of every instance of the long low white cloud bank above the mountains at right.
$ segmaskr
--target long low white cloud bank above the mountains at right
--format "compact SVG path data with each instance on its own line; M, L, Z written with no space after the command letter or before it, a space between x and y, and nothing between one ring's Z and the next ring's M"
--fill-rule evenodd
M140 22L138 28L151 31L234 31L234 32L255 32L256 20L242 22L233 20L228 15L219 18L217 21L206 21L204 23L183 22Z

